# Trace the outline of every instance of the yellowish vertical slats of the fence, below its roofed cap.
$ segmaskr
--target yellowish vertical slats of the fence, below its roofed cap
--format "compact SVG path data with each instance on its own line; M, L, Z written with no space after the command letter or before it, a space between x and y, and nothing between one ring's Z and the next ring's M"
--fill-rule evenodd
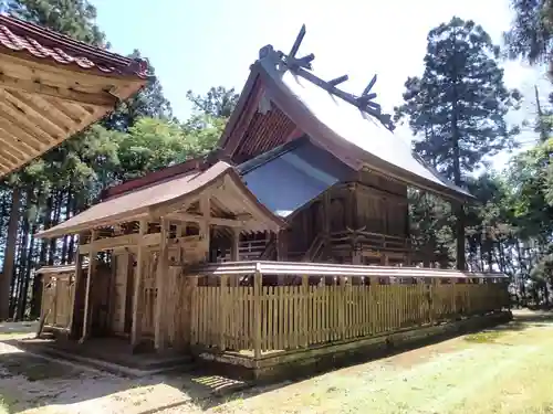
M192 344L253 350L253 288L196 289ZM509 305L504 284L263 286L259 300L261 352L366 338Z

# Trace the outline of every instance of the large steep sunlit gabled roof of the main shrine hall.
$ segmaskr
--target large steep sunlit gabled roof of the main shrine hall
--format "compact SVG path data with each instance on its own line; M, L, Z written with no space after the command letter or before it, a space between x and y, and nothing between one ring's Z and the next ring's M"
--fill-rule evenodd
M265 99L276 105L313 142L354 170L374 170L447 198L472 198L414 153L405 139L408 137L398 136L357 106L299 76L286 67L282 53L271 46L262 51L263 55L251 67L237 113L219 142L228 148L228 156L240 146L237 140L244 135L243 123L251 116L251 105L259 110Z

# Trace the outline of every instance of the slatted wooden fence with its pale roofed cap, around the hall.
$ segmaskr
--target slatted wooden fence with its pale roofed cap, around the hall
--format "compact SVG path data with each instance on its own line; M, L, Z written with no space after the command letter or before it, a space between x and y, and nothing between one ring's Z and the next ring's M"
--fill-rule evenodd
M254 358L509 306L507 279L497 274L274 262L210 265L200 274L220 276L220 283L197 287L191 304L191 344L246 351ZM301 275L300 285L263 286L263 279L272 280L271 276L294 274ZM234 280L246 275L252 275L250 286L236 286ZM314 276L321 276L319 282ZM389 277L419 283L377 282Z

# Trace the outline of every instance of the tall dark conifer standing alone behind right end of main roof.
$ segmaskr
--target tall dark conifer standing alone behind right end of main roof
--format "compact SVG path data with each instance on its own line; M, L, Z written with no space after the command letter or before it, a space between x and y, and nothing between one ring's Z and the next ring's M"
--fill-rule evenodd
M406 118L419 140L415 150L440 172L465 185L467 173L514 146L518 129L509 129L508 110L520 100L503 84L499 47L472 21L452 18L428 33L425 72L405 83L405 104L396 120ZM463 269L465 220L456 204L457 266Z

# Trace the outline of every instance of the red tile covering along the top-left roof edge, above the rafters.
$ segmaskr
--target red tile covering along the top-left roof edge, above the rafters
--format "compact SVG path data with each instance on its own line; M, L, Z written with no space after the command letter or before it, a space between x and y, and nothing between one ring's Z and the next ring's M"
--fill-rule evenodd
M4 47L15 55L73 66L75 70L114 76L148 77L148 64L143 60L124 57L1 13L0 51Z

